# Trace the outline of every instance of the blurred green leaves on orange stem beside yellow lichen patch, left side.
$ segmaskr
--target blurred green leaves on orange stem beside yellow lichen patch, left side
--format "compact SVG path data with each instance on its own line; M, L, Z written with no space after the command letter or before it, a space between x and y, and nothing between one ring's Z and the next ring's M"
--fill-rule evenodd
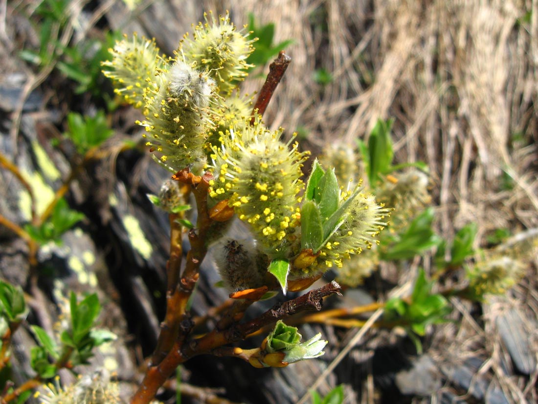
M59 199L51 216L39 226L27 224L25 230L31 238L40 244L54 241L61 243L61 235L72 228L76 222L82 220L84 215L77 212L67 204L63 198Z

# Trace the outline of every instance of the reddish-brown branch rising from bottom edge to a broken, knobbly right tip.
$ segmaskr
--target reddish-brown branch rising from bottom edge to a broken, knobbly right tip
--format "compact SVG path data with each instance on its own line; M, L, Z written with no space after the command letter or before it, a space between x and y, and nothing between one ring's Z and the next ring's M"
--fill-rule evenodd
M213 330L206 336L191 340L187 344L183 344L183 341L178 339L166 358L158 366L148 368L137 393L131 399L131 404L147 404L150 402L159 387L174 373L175 368L187 359L209 353L223 345L238 342L265 325L273 324L279 319L297 312L320 310L322 299L334 293L340 294L340 289L340 285L333 281L298 298L278 303L272 309L247 323L236 324L223 331Z

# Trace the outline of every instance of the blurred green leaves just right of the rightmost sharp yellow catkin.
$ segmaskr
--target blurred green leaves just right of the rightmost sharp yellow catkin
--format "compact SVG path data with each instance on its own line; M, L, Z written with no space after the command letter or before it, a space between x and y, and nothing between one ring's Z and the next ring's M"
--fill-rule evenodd
M438 246L442 239L431 227L433 220L434 209L429 207L417 215L404 232L386 236L381 241L383 245L380 249L381 259L385 261L408 260Z

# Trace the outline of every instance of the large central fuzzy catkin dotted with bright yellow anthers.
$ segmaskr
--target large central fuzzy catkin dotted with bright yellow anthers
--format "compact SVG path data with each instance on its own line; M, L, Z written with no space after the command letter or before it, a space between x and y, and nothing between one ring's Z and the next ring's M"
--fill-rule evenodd
M306 155L298 145L280 142L281 131L271 131L256 120L231 128L214 147L210 196L229 199L240 220L251 226L260 248L271 257L285 255L295 227L301 167Z

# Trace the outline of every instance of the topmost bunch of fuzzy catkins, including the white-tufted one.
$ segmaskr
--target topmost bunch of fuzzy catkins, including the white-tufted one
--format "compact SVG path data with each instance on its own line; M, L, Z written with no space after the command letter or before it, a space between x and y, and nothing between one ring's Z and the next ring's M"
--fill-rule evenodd
M116 93L143 110L145 119L137 123L146 130L146 145L174 172L201 169L208 137L232 117L246 116L242 97L225 101L222 94L231 95L245 78L253 50L252 40L228 14L210 22L206 16L193 39L185 38L167 59L154 40L134 34L118 42L110 50L112 60L103 63Z

